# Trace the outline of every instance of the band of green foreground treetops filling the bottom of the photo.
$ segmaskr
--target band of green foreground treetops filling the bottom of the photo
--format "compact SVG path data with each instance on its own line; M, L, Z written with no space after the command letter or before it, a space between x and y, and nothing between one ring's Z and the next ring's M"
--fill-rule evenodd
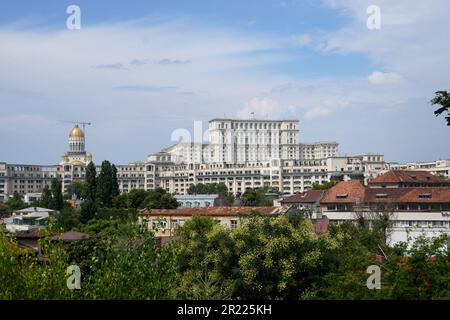
M43 256L0 232L0 299L450 299L446 235L389 247L376 228L353 224L317 235L283 215L252 215L233 230L195 216L177 229L179 241L160 247L132 220L81 227L91 239L46 237ZM72 264L81 290L66 287ZM374 264L381 290L366 287Z

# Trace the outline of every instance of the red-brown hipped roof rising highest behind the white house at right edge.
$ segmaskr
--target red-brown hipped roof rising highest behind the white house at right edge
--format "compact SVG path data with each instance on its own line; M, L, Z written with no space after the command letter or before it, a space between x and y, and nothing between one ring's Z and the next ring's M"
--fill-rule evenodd
M369 181L370 184L384 183L425 183L449 185L447 179L435 176L428 171L391 170Z

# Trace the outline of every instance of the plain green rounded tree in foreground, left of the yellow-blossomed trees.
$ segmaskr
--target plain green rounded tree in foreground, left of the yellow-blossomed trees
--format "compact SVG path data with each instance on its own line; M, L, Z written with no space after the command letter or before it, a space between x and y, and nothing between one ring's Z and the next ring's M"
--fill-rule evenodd
M91 259L93 267L83 286L86 299L170 299L178 286L176 252L158 249L145 226L121 224L109 237L106 250Z

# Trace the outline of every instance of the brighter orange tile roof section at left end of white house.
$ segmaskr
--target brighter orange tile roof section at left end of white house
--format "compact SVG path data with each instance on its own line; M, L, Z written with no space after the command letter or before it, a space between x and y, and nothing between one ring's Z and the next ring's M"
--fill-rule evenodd
M321 203L355 203L364 198L364 186L360 180L340 181L325 193Z

